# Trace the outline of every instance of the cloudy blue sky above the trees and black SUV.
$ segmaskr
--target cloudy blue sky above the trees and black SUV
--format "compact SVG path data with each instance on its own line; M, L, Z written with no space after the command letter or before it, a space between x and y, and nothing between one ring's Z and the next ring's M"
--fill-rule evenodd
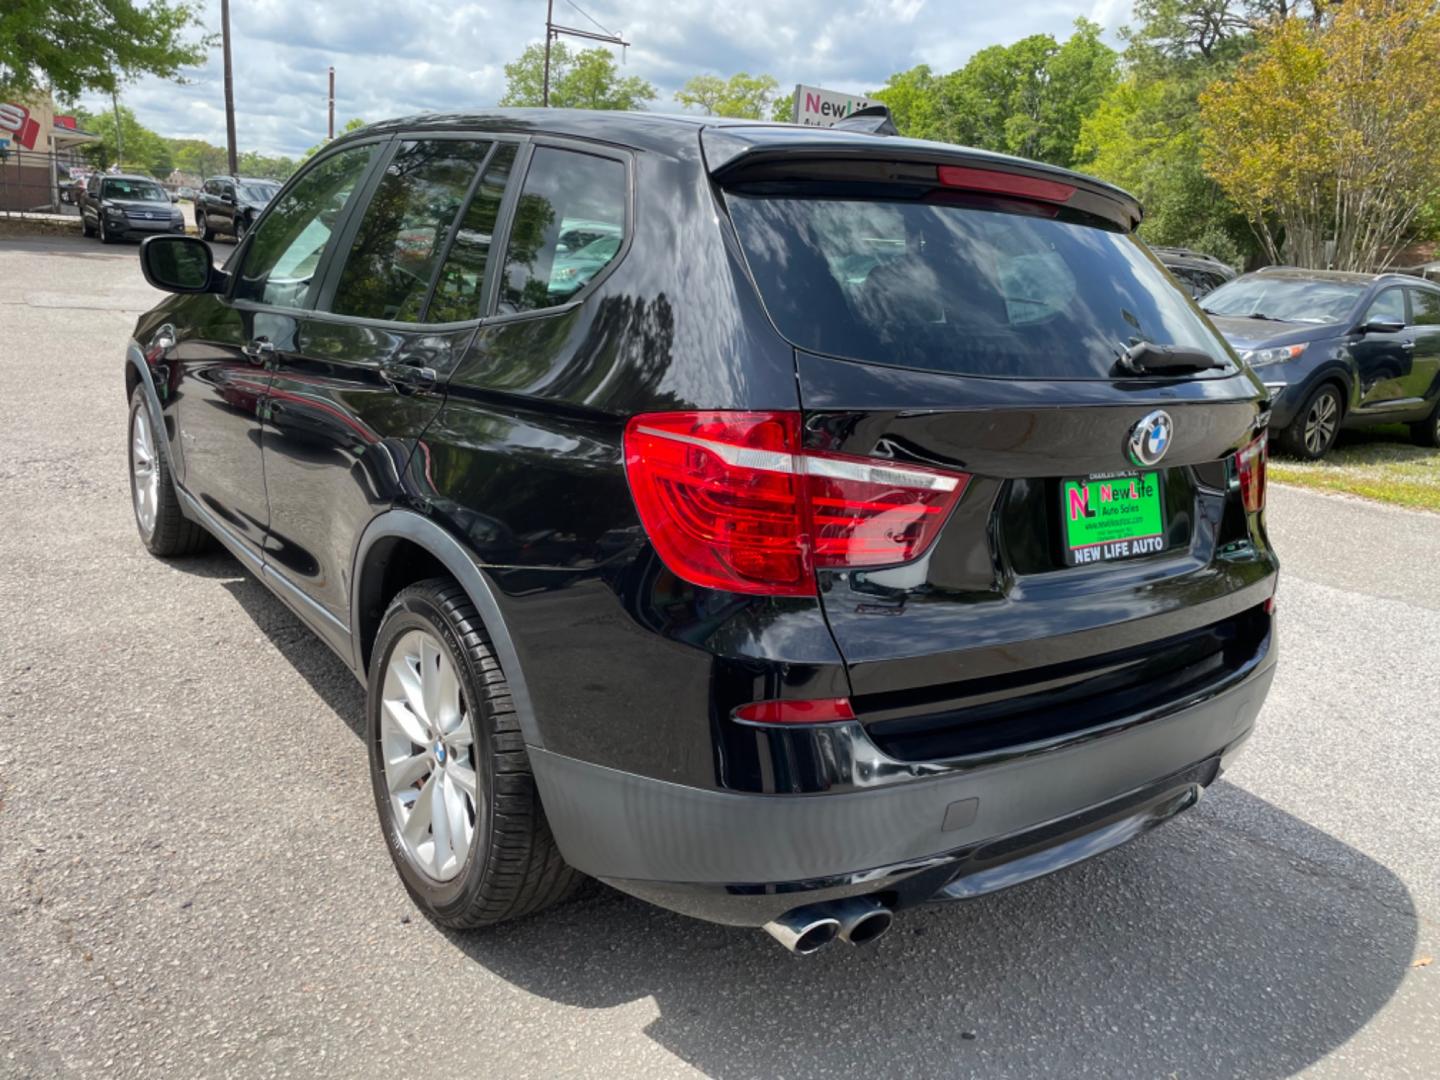
M916 63L960 66L978 49L1031 33L1064 37L1077 16L1115 30L1129 0L577 0L634 46L622 72L660 88L675 111L691 75L737 71L865 92ZM295 156L325 134L325 69L336 66L336 125L494 105L504 65L544 36L544 0L235 0L235 107L240 150ZM219 0L206 0L210 29ZM586 26L556 0L556 22ZM618 50L616 50L618 52ZM184 85L144 79L122 102L170 137L225 144L220 50ZM89 109L109 101L84 99Z

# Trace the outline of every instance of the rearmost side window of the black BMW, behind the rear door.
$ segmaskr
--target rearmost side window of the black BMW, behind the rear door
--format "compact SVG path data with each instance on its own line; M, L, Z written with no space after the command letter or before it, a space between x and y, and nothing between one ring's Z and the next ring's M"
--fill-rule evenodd
M621 161L537 148L510 228L500 312L563 304L585 288L619 253L625 202Z

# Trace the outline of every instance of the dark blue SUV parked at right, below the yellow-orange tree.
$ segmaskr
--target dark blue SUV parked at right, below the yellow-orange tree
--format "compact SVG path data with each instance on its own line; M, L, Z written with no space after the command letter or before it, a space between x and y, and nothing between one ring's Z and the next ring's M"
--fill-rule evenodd
M1440 285L1267 266L1201 307L1270 389L1270 428L1292 454L1322 458L1342 428L1377 423L1440 445Z

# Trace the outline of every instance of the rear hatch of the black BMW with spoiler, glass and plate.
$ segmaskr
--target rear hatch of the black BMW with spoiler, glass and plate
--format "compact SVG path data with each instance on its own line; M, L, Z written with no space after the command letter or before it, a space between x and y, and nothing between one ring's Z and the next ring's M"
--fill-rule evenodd
M706 150L796 348L805 448L963 484L920 557L816 572L881 749L1004 753L1259 664L1263 389L1135 240L1133 202L930 144L779 138Z

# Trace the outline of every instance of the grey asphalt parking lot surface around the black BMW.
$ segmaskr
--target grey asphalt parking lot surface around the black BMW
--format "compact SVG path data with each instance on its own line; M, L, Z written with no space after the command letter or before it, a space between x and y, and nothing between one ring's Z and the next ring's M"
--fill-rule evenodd
M0 239L0 1077L1440 1074L1440 516L1273 488L1248 753L1092 863L814 958L602 888L454 935L348 672L135 537L154 298L134 245Z

